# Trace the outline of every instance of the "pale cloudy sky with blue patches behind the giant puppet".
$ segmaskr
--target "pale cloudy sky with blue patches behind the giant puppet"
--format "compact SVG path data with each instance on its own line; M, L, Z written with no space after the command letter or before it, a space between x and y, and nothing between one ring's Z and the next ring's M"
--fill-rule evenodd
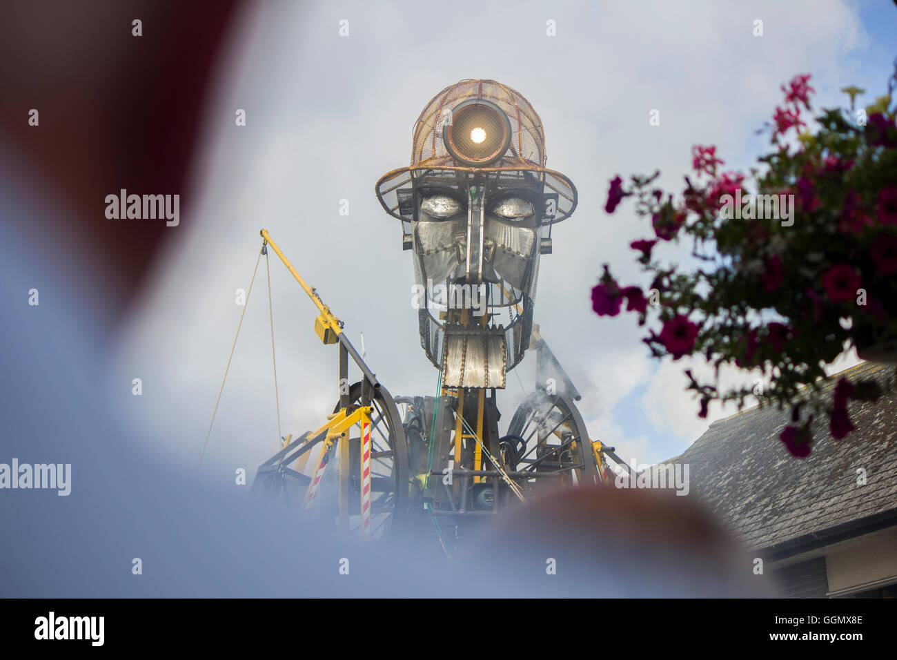
M753 35L758 19L762 37ZM193 163L196 192L181 198L180 224L168 230L178 235L110 351L110 396L120 415L157 431L163 458L196 466L243 311L236 292L248 288L263 227L358 348L363 333L365 359L393 395L434 394L437 372L411 305L411 254L374 184L408 164L414 121L431 97L462 78L492 78L533 104L547 166L579 189L579 207L554 228L553 254L542 259L535 321L582 394L593 438L627 461L674 457L736 410L697 418L684 390L689 363L651 359L633 314L592 312L603 263L627 284L647 284L628 246L650 235L649 222L625 203L605 214L608 180L660 169L661 185L679 190L696 144L717 145L727 169L745 169L767 150L756 131L794 75L813 75L814 108L843 104L849 84L872 102L893 72L895 25L890 0L260 2L240 17L221 63L205 151ZM236 125L237 110L246 126ZM659 126L649 125L651 110ZM669 246L666 256L682 253ZM281 435L297 436L335 405L337 351L317 339L314 306L271 258ZM855 362L847 355L839 367ZM500 394L502 431L532 390L532 356L515 371ZM263 258L203 474L251 473L278 446Z

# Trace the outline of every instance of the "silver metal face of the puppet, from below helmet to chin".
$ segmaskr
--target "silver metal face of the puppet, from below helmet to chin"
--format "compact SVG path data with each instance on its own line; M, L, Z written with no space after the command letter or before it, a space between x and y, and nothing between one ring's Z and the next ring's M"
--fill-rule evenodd
M475 173L415 186L421 339L448 387L504 387L528 346L542 189Z

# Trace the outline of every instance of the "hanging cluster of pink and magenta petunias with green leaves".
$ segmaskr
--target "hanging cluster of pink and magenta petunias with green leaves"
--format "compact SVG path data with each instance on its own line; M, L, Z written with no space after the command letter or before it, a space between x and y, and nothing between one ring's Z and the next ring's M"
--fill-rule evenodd
M750 173L722 171L716 147L696 145L694 173L678 197L655 185L659 172L628 185L611 180L605 211L632 197L637 214L650 219L653 235L630 247L651 284L621 286L605 265L592 308L615 316L625 303L640 325L649 316L657 323L642 339L652 355L701 356L716 367L706 383L686 371L701 417L713 400L790 406L781 440L805 457L814 418L826 416L840 440L855 430L849 401L875 401L892 386L841 378L831 402L806 388L851 344L863 356L897 339L897 125L884 96L867 107L866 121L823 110L811 134L803 114L811 110L810 76L798 75L782 92L768 125L773 150ZM684 241L693 260L658 260L658 244ZM768 384L759 393L724 389L725 365L760 372Z

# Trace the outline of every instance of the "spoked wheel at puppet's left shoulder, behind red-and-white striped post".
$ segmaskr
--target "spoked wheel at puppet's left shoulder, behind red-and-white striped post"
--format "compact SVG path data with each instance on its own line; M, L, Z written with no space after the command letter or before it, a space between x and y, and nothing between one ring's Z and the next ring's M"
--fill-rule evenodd
M350 407L361 405L361 383L349 390ZM405 429L396 402L387 389L380 386L370 401L370 536L386 538L398 530L408 510L408 455ZM337 401L334 412L339 411ZM346 432L348 441L348 531L361 534L361 427ZM337 442L331 451L328 467L321 480L313 514L340 521L340 461L345 455ZM344 477L345 478L345 477ZM316 511L317 509L317 511ZM345 522L343 518L343 522Z

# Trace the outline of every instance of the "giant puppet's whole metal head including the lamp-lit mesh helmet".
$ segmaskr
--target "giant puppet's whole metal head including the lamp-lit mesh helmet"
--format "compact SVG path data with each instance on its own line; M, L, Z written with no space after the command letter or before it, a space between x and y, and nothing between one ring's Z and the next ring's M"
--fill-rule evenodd
M449 387L504 387L529 345L539 258L576 207L572 182L545 163L529 101L462 80L423 109L411 164L377 183L414 253L422 347Z

